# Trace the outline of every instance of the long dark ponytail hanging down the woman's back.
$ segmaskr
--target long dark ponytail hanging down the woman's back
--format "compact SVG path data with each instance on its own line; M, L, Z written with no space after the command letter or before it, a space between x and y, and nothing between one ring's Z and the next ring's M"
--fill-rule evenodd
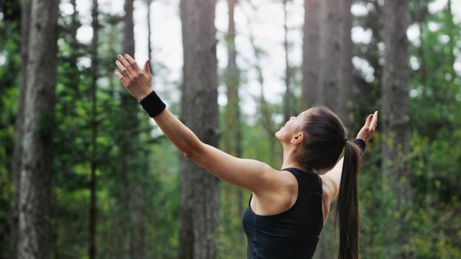
M338 202L336 224L340 227L339 259L358 258L358 170L362 163L358 145L346 141Z

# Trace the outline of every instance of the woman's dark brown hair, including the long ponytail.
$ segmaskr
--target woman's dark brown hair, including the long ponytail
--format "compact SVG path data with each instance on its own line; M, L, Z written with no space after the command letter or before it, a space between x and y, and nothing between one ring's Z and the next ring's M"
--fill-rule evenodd
M315 106L305 118L303 131L306 134L299 163L307 170L331 169L336 165L342 149L344 163L338 202L336 223L340 227L338 258L358 258L358 170L362 161L361 150L350 141L340 118L327 107Z

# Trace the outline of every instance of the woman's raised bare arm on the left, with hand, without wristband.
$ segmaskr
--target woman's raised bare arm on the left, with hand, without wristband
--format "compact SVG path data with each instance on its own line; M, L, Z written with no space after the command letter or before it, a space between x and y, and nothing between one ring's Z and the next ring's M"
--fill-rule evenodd
M144 72L139 69L136 61L125 55L119 55L116 65L123 72L114 73L123 82L125 88L138 100L143 100L151 92L152 75L148 69L148 61L144 64ZM211 174L231 184L263 194L277 189L291 187L291 182L284 183L286 172L279 172L266 163L251 159L239 159L225 152L202 143L200 139L168 109L163 109L154 116L155 123L165 136L180 150L181 154L192 159Z

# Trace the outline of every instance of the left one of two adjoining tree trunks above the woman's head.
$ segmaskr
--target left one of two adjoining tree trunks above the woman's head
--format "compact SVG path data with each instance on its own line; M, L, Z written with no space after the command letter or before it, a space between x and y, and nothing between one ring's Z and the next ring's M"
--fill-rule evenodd
M304 0L304 44L302 62L302 98L306 107L319 101L320 1Z

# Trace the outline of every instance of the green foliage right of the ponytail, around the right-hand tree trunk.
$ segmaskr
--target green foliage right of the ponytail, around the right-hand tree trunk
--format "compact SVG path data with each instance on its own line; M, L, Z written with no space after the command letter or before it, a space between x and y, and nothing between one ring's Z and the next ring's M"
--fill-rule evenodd
M425 1L411 2L412 17L417 19L414 22L421 31L420 43L411 44L410 48L410 56L419 64L411 69L412 134L410 154L406 157L412 166L414 200L412 206L391 209L397 197L385 185L389 181L381 175L379 147L373 145L372 151L367 151L360 178L363 258L392 257L389 247L411 251L416 258L458 258L461 253L458 219L461 165L457 144L461 141L461 120L455 115L461 111L461 102L456 98L461 87L460 73L453 69L455 53L460 51L455 44L460 41L460 24L453 24L448 6L428 15ZM423 5L417 6L416 2ZM367 53L365 57L373 64L379 55ZM381 68L374 66L374 69L379 73ZM364 97L368 98L366 94ZM374 141L379 139L375 134ZM412 247L393 243L397 233L389 233L389 229L398 218L403 218L403 224L396 231L411 231Z

